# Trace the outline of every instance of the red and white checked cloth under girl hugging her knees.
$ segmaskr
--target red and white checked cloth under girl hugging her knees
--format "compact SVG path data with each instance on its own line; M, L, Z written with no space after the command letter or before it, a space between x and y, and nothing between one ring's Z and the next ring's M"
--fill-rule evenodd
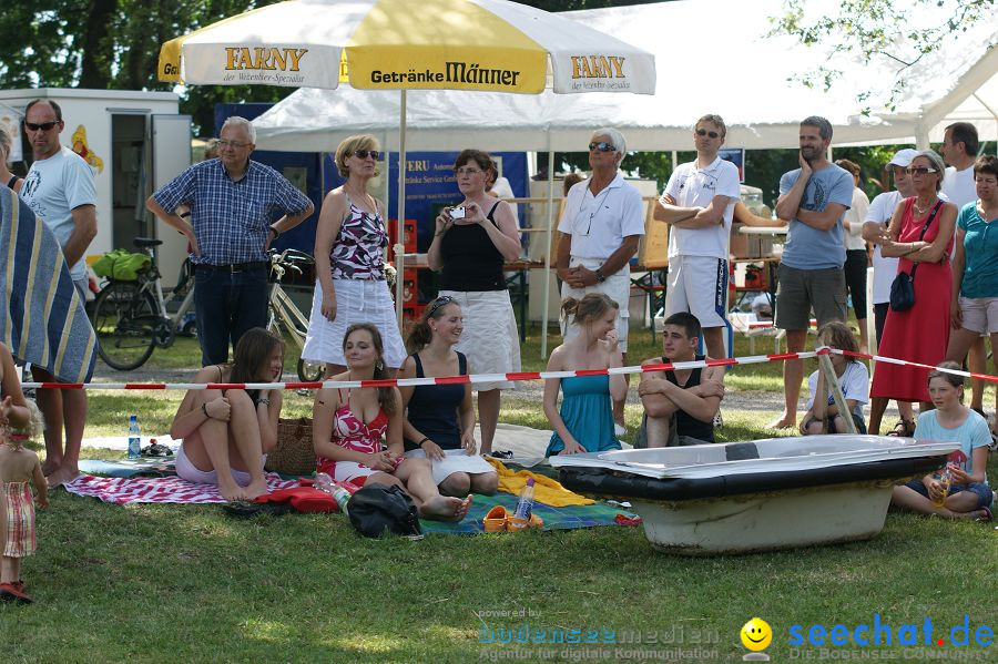
M276 474L267 474L267 489L276 491L297 487L297 480L282 480ZM65 490L77 496L96 498L112 504L139 502L216 503L227 502L218 493L215 484L195 484L177 477L170 478L99 478L81 474L72 482L63 484Z

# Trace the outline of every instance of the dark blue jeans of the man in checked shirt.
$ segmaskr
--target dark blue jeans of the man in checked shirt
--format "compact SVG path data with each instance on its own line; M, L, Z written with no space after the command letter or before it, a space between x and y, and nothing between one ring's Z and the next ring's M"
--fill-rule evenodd
M194 272L194 310L201 365L228 361L240 337L267 325L267 270L254 267L231 272L228 266L198 265Z

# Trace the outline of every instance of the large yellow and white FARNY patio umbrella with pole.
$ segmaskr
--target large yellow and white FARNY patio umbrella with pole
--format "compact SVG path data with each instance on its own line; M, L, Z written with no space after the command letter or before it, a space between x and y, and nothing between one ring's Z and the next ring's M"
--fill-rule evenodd
M506 0L288 0L163 44L160 79L399 90L404 237L406 90L653 94L654 57L583 23ZM482 131L488 131L482 126ZM553 184L551 185L553 186ZM403 248L395 246L403 268ZM396 302L401 302L403 279ZM398 307L399 323L401 307Z

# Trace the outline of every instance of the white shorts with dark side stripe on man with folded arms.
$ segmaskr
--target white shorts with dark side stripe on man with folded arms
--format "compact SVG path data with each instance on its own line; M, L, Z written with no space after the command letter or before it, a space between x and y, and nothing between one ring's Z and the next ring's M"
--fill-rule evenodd
M727 261L711 256L674 256L665 280L665 317L689 311L701 327L722 327L727 310Z

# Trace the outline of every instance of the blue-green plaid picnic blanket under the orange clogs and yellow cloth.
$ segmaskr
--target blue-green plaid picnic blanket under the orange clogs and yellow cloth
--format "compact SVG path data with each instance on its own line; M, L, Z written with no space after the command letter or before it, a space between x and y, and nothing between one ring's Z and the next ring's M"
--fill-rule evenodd
M430 521L420 519L424 533L441 533L441 534L479 534L485 530L481 520L497 504L505 507L510 513L516 510L516 496L509 493L496 493L495 496L475 494L471 501L471 509L468 517L459 523L447 523L444 521ZM587 505L567 505L561 508L551 507L542 502L533 503L533 513L544 520L542 530L571 530L574 528L594 528L597 525L633 525L637 515L610 507L604 503L593 503ZM618 514L623 514L624 520L619 520ZM622 522L623 521L623 522ZM518 533L508 533L501 537L517 537Z

